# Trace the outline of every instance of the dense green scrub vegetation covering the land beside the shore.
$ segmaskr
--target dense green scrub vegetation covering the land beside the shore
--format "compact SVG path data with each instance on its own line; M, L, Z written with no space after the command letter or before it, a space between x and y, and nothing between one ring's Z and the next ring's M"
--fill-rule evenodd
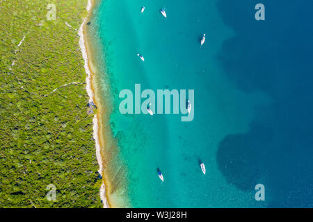
M77 34L86 5L0 0L0 207L102 207Z

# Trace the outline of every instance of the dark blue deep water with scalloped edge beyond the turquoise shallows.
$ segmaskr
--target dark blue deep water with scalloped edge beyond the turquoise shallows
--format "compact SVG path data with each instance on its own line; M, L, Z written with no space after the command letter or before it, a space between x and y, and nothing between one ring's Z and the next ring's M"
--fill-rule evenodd
M241 189L266 175L268 207L312 207L313 2L262 1L264 22L248 19L255 3L218 1L223 22L236 33L223 42L219 58L239 89L264 92L273 103L259 108L247 133L220 142L218 164L223 169L232 162L234 169L223 174ZM243 158L249 162L241 164Z

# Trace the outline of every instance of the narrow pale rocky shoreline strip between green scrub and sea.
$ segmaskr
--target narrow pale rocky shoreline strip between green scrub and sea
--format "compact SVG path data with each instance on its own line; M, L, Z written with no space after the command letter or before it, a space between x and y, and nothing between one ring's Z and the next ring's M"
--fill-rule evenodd
M86 6L86 10L88 12L88 15L86 18L83 19L83 23L81 24L80 28L79 28L79 33L78 35L80 36L79 38L79 46L81 48L81 53L83 56L83 60L84 60L84 68L86 71L86 91L87 94L89 96L89 103L93 102L97 108L99 108L99 105L97 104L96 100L95 100L95 91L93 89L93 85L92 85L92 78L93 78L93 74L90 71L90 60L88 58L90 58L90 56L88 56L88 46L86 44L86 21L89 19L90 15L91 15L91 11L93 10L93 6L95 6L94 0L88 0L88 4ZM103 207L104 208L111 208L111 205L109 203L109 198L107 196L107 189L106 189L106 182L104 180L104 169L103 169L103 160L102 160L102 154L101 154L101 144L99 141L99 117L98 117L98 113L97 112L94 117L93 117L93 138L95 139L95 148L96 148L96 156L97 156L97 162L99 164L99 174L102 176L102 185L99 189L99 196L102 200L103 203Z

